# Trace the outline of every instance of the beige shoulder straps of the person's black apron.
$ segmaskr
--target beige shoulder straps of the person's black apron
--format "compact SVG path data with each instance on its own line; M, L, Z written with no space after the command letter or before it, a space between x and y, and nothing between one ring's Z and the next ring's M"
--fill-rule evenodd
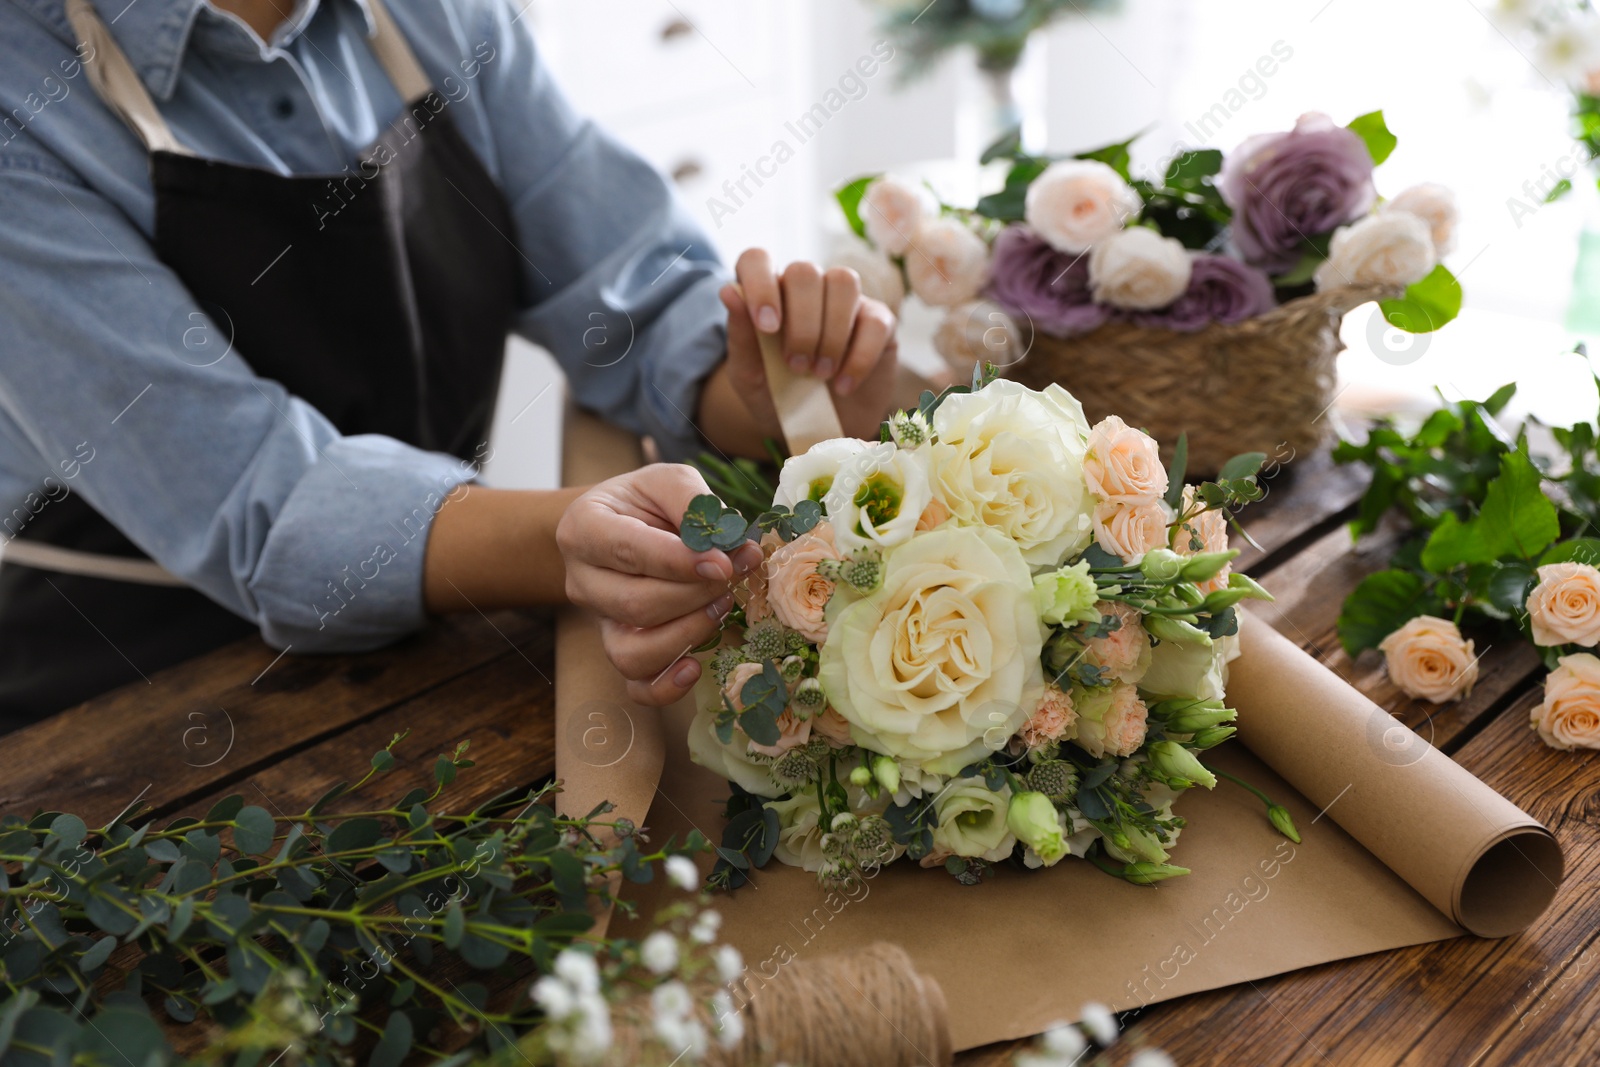
M366 0L366 6L373 13L373 54L389 75L402 102L411 104L432 93L434 83L406 43L405 34L389 16L389 10L381 0ZM91 59L83 67L88 70L90 85L94 86L101 101L139 136L146 150L194 155L173 136L138 70L128 62L128 56L117 45L117 38L112 37L110 27L101 19L94 5L90 0L66 0L66 8L78 45L90 50Z

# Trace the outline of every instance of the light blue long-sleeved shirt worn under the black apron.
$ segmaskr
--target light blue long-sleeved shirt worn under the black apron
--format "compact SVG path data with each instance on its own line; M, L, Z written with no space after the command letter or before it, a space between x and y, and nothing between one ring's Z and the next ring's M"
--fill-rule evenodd
M202 0L94 2L202 157L354 170L402 110L365 0L302 0L266 48ZM555 354L581 405L693 453L690 413L726 349L710 242L573 112L509 0L389 8L510 203L533 290L517 333ZM248 352L216 360L155 258L154 211L144 146L90 86L61 0L0 0L0 541L82 493L278 648L416 629L432 514L475 469L342 437Z

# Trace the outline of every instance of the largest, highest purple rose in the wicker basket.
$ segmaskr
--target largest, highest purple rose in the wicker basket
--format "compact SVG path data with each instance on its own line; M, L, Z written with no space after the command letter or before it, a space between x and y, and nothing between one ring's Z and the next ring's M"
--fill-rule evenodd
M1378 198L1366 142L1320 112L1301 115L1288 133L1246 139L1216 186L1234 210L1238 253L1270 274L1298 264L1307 237L1331 234Z

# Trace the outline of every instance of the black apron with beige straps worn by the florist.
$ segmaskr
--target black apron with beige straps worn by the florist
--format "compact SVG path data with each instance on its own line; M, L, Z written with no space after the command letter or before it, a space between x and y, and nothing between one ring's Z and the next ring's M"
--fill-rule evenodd
M192 155L88 0L67 0L67 14L94 48L101 99L149 149L155 254L213 328L339 432L467 459L525 291L514 222L389 13L370 6L373 51L406 110L347 173L288 178ZM43 506L14 545L0 563L0 733L256 629L163 579L77 493Z

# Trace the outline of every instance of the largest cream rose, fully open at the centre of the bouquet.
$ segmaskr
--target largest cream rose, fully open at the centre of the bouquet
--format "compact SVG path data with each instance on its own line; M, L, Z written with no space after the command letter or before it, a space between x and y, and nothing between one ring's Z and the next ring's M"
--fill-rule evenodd
M1018 547L942 526L888 552L870 597L829 601L818 677L858 744L950 774L1035 707L1043 640Z

